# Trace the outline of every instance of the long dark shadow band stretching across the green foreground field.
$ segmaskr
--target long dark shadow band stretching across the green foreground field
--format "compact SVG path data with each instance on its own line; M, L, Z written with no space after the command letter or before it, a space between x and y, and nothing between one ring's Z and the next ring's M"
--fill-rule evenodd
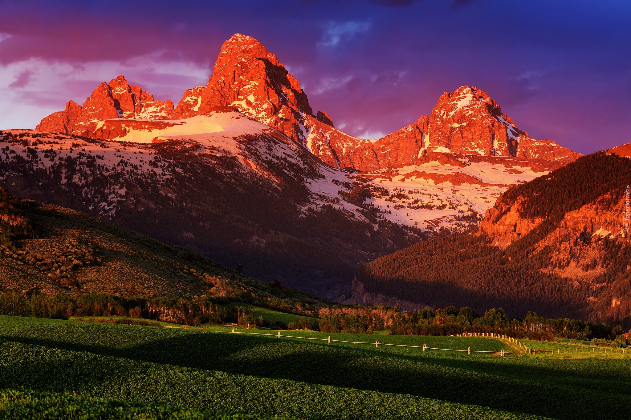
M370 349L239 334L178 332L128 348L115 347L115 343L108 346L105 343L86 345L15 336L0 338L116 358L411 394L562 419L584 418L586 409L603 401L607 401L608 414L615 417L615 413L625 413L631 404L629 382L620 382L617 389L597 390L601 381L598 372L587 378L581 370L570 372L544 366L510 365L481 358L450 360L426 355L379 354ZM563 378L564 383L568 380L575 382L574 387L558 386L554 383L555 377ZM592 390L582 392L580 388Z

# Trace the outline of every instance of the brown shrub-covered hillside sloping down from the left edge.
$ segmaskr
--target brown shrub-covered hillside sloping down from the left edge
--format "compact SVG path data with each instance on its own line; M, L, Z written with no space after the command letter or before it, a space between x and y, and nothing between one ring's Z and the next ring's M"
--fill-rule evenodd
M274 307L272 301L302 307L331 303L86 213L20 200L2 188L0 238L0 289L24 295L208 295Z

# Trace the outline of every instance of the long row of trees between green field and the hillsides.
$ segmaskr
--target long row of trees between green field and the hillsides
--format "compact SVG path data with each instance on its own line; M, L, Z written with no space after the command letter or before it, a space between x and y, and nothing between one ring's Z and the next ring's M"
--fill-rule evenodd
M319 310L319 320L307 318L300 321L271 323L254 317L252 309L235 305L227 307L213 302L210 297L194 300L167 297L118 297L90 293L76 299L59 293L54 297L32 295L25 297L15 290L0 292L0 314L44 318L76 316L129 316L199 325L205 323L234 322L245 328L265 327L273 329L313 329L322 332L346 332L372 334L389 331L398 335L454 335L463 332L496 332L515 338L551 340L554 337L570 339L613 339L621 346L628 345L622 338L620 326L611 328L569 318L550 319L528 312L524 318L509 319L502 308L488 309L483 316L469 307L454 306L432 310L428 307L414 312L401 312L394 308L376 307L326 307ZM617 341L616 341L617 340Z

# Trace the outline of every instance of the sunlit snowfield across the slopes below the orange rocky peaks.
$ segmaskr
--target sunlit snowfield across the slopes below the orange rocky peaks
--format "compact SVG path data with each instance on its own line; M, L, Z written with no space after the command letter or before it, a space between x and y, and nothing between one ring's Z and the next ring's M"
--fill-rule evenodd
M142 120L140 125L138 120L106 120L101 125L106 127L110 123L122 124L126 134L112 140L87 142L55 133L8 130L5 133L21 135L21 141L2 143L0 158L15 159L14 155L27 158L28 152L33 167L49 168L73 157L78 162L95 161L107 167L107 171L119 171L124 176L144 173L168 178L171 175L161 170L164 162L156 164L155 150L150 145L180 140L194 146L192 153L233 156L242 171L258 171L270 178L261 165L263 159L315 168L309 172L312 175L302 178L312 195L305 208L332 205L350 217L366 220L360 213L362 209L343 201L339 191L348 190L354 180L368 184L372 196L365 204L379 209L380 217L423 230L463 229L469 222L457 217L478 215L479 218L510 185L530 181L551 170L532 159L480 157L477 161L464 159L462 166L428 162L350 174L324 164L307 147L283 133L234 111L183 120ZM37 159L32 159L34 153ZM6 177L1 175L2 179ZM124 195L124 190L110 191L110 203L105 208L114 208L115 201Z

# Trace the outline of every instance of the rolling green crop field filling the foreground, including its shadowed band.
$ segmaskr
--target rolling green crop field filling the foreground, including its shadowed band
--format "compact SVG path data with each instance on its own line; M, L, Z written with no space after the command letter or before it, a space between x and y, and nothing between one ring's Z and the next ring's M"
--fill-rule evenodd
M222 411L574 420L626 418L631 409L631 364L622 358L502 358L372 344L509 350L490 338L281 332L371 342L327 344L219 331L231 329L2 316L0 417L35 417L28 413L49 407L57 417L40 418L81 417L83 410L114 413L88 418L233 418L213 414Z

